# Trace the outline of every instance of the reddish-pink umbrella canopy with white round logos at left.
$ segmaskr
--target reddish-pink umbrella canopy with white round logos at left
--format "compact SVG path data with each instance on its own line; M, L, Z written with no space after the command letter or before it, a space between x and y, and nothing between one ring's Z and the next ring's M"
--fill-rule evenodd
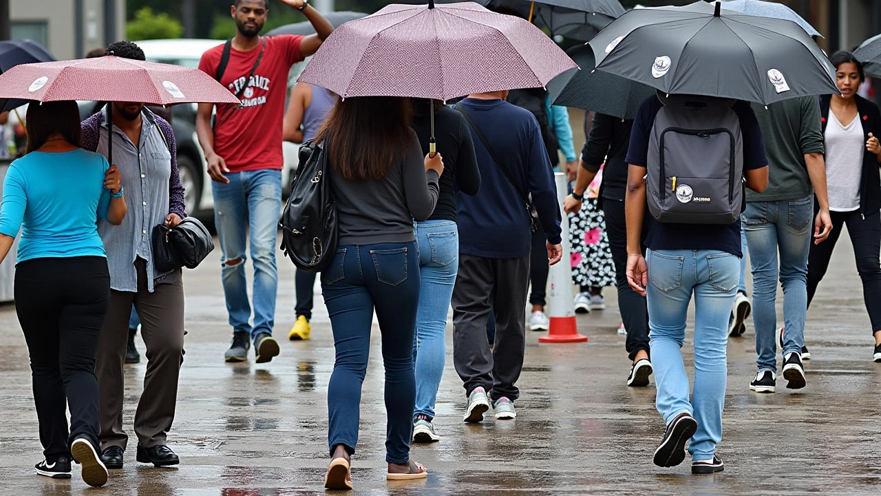
M17 65L0 74L0 98L35 101L140 101L238 103L198 69L116 56Z

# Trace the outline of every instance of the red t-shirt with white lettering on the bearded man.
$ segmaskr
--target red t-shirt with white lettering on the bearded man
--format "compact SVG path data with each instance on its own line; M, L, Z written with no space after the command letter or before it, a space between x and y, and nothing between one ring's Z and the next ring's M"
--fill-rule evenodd
M235 105L217 106L217 125L214 129L214 151L226 161L230 172L245 170L282 169L282 122L285 118L287 75L291 66L303 60L300 41L303 36L267 36L263 58L248 78L260 54L261 44L242 52L230 50L220 84L238 93L242 85L241 108ZM262 41L261 41L262 43ZM212 78L217 75L223 45L208 50L199 61L199 69Z

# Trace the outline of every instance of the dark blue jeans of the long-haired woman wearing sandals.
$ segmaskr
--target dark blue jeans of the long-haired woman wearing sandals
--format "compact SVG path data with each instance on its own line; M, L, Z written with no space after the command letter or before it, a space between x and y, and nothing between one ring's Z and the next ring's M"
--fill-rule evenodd
M416 403L413 334L419 304L418 267L416 242L349 244L337 247L337 254L322 271L322 294L337 349L328 385L331 454L337 445L353 454L358 444L361 385L367 372L375 310L385 365L386 461L410 461Z

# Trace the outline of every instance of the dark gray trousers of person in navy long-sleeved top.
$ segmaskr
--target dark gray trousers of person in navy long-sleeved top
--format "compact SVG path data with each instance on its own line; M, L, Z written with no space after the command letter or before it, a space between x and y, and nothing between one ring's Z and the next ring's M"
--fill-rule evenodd
M519 259L488 259L459 255L453 289L453 362L466 395L477 387L492 390L492 400L520 396L526 350L526 293L529 255ZM494 312L495 345L490 351L486 321Z

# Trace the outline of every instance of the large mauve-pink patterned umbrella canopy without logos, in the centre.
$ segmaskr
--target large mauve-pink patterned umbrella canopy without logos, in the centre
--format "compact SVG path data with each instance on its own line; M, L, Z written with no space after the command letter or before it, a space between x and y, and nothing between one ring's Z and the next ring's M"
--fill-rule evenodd
M545 86L574 62L525 19L473 2L391 4L334 30L300 80L342 97L449 100Z

